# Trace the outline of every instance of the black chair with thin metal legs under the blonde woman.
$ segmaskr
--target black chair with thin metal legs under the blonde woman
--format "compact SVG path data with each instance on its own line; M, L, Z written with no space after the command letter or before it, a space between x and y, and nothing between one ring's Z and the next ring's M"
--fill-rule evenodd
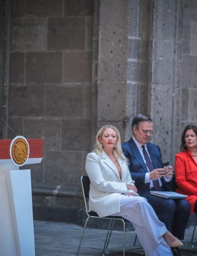
M87 201L86 200L89 198L89 185L90 185L89 177L88 176L81 176L81 184L82 184L82 191L83 191L83 197L84 197L84 202L85 202L85 210L86 210L86 214L87 214L87 219L85 221L85 225L84 225L84 228L83 228L83 233L82 233L82 236L81 236L81 239L80 239L80 242L79 242L78 251L77 251L76 256L78 256L78 254L79 254L81 242L82 242L82 239L83 239L83 236L84 236L84 233L85 233L85 228L87 226L87 222L88 222L89 218L110 220L108 232L107 232L107 235L106 235L106 238L105 238L105 243L104 243L104 246L103 246L103 253L102 253L103 256L105 255L105 252L107 254L109 254L109 252L107 251L107 247L108 247L108 244L109 244L109 241L110 241L110 237L111 237L111 234L112 234L112 229L113 229L115 221L121 221L123 223L123 256L125 256L125 222L127 220L122 218L122 217L119 217L119 216L99 217L98 214L96 214L96 212L94 212L94 211L88 212ZM135 248L136 239L137 239L137 235L135 237L135 241L134 241L134 245L133 245L133 249L135 249L137 251L137 249L142 249L142 248Z

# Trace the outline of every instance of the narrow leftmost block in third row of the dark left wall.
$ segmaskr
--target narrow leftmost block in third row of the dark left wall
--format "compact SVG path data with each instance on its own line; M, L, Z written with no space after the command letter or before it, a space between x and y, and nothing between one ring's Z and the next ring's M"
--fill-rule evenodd
M25 54L12 52L10 54L9 81L12 84L24 84Z

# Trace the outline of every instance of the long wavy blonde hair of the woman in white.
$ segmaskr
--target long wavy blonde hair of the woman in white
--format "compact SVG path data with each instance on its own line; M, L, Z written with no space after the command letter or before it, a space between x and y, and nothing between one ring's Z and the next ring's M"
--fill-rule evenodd
M115 152L117 154L117 157L121 158L121 160L126 161L126 158L123 157L123 153L122 153L121 138L120 138L119 130L115 126L112 126L110 124L105 125L105 126L101 127L101 129L98 130L98 132L96 134L96 144L95 144L95 148L93 151L98 155L100 155L103 152L103 147L102 147L102 144L99 141L99 139L101 139L103 132L108 128L113 129L117 135L117 143L116 143L116 147L113 148L113 152Z

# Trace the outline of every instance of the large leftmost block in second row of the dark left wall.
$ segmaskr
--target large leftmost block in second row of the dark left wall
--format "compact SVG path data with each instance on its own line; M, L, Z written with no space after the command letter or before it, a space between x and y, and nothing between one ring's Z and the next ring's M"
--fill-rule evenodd
M11 50L21 52L46 50L46 19L14 19Z

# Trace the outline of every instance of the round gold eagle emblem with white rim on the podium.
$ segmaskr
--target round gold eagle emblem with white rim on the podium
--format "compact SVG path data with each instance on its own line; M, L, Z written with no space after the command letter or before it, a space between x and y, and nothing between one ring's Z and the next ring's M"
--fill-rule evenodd
M14 164L22 166L29 157L29 145L23 136L17 136L11 143L10 156Z

